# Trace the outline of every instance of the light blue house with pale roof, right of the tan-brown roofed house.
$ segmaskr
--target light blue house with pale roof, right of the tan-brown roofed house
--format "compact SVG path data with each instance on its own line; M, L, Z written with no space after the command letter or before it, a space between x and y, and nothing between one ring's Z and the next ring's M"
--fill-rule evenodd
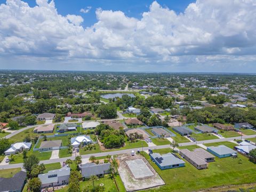
M230 156L237 156L237 152L233 149L230 149L229 147L225 145L220 145L220 146L212 146L212 147L207 147L207 151L209 151L211 154L223 158L223 157L230 157Z

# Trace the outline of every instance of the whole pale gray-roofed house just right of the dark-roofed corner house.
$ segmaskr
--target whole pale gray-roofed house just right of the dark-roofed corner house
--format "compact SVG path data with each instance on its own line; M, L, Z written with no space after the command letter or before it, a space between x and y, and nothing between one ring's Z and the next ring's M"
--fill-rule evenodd
M41 180L41 188L67 185L70 176L70 168L62 167L58 170L48 171L48 173L39 174Z

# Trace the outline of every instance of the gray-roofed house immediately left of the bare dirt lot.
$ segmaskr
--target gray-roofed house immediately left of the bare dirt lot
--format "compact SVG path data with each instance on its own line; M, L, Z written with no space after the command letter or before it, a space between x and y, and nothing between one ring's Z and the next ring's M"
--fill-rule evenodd
M81 165L81 172L83 178L90 178L92 175L103 177L104 174L108 174L110 169L110 163L95 164L85 163Z

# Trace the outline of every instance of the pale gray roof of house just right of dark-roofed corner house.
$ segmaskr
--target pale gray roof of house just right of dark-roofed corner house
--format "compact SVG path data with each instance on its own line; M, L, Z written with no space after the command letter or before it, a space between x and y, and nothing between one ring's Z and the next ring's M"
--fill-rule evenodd
M42 184L58 182L58 177L70 175L69 167L62 167L58 170L52 170L48 173L39 174L38 178L41 180Z

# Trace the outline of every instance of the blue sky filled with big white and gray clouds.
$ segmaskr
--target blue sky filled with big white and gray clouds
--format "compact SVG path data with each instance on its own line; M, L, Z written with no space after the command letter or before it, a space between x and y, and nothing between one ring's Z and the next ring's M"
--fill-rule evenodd
M256 71L256 4L0 0L0 69Z

